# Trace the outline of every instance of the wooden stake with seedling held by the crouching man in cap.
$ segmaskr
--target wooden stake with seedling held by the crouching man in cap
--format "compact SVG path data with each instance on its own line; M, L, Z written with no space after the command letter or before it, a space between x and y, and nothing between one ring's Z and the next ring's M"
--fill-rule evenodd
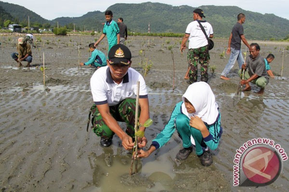
M139 98L139 94L140 94L140 81L138 81L136 85L137 85L137 87L136 87L136 116L135 116L135 121L134 121L134 132L135 133L138 131L138 98ZM132 149L129 175L132 174L132 167L134 165L134 161L135 161L135 173L138 172L138 158L137 158L138 137L135 136L134 138L135 138L135 141L134 141L134 148Z

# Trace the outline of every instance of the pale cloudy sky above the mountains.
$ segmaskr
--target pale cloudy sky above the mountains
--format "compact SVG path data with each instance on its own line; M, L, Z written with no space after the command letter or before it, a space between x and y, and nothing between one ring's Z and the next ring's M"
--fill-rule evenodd
M53 20L58 17L80 17L87 12L101 11L104 12L109 6L115 3L143 3L147 1L99 1L99 0L2 0L8 3L21 5L45 19ZM199 7L201 5L226 5L237 6L241 9L258 12L273 13L279 17L289 19L289 0L202 0L184 1L184 0L158 0L150 2L165 3L173 6L189 5Z

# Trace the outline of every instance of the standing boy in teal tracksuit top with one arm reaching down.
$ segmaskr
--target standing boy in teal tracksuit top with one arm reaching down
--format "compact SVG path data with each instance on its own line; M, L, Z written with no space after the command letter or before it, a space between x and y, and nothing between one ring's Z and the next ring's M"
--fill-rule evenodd
M119 34L119 28L117 23L112 20L112 11L108 10L105 12L105 19L106 22L103 27L103 33L95 42L94 46L97 47L99 42L105 37L105 35L108 37L108 52L110 48L116 44L119 44L120 41L120 34Z

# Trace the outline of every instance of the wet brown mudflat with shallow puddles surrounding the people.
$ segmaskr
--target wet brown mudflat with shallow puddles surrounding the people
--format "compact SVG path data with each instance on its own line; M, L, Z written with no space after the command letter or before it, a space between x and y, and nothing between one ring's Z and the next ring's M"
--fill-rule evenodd
M94 69L79 67L87 61L88 44L98 36L35 35L31 68L18 68L11 58L19 36L1 35L0 47L0 188L2 191L288 191L289 165L284 161L279 178L266 187L233 187L236 150L253 138L269 138L289 151L288 140L288 50L284 52L283 77L270 78L260 96L251 92L237 95L239 77L235 64L229 77L220 79L229 55L220 58L227 39L214 39L210 51L209 84L222 115L223 135L212 151L213 164L201 166L193 151L185 161L175 156L182 148L175 132L171 140L150 157L139 160L138 174L129 176L131 155L113 138L102 148L100 138L89 129L88 113L93 104L90 77ZM41 42L40 42L41 38ZM175 104L188 87L186 52L180 54L181 38L129 37L132 66L144 75L139 63L153 64L145 81L149 92L153 125L145 136L151 140L164 128ZM249 41L252 43L255 41ZM259 41L261 55L275 55L271 69L281 75L283 48L288 43ZM80 58L78 57L78 46ZM107 41L98 47L107 55ZM139 51L143 50L140 54ZM171 50L170 50L171 49ZM173 60L175 88L173 89ZM187 50L186 50L187 51ZM242 52L245 51L242 45ZM43 52L45 81L43 90ZM249 53L247 52L247 56ZM23 62L26 65L26 62ZM200 77L198 77L200 78ZM196 92L197 94L197 92ZM91 126L91 124L89 125ZM125 128L125 125L121 123ZM110 166L108 166L110 165Z

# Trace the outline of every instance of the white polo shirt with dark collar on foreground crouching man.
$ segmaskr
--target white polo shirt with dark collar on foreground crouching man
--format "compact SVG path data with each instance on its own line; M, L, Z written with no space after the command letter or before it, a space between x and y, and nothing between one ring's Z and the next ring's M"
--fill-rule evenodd
M93 101L96 105L106 104L116 105L126 98L132 98L136 93L136 83L140 81L140 97L147 98L147 87L144 78L136 70L129 68L123 81L117 84L113 81L110 68L101 67L92 75L90 79L90 88Z

